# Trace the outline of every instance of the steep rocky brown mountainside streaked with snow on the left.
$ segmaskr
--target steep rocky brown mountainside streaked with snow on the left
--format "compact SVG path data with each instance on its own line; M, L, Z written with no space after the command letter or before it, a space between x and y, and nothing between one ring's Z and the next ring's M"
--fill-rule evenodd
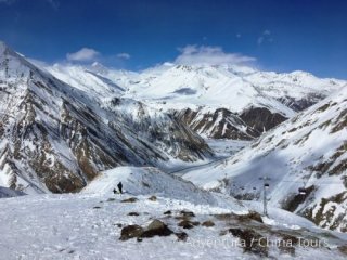
M211 155L180 120L90 77L94 89L73 88L0 43L0 185L74 192L115 166ZM95 98L101 92L107 98Z

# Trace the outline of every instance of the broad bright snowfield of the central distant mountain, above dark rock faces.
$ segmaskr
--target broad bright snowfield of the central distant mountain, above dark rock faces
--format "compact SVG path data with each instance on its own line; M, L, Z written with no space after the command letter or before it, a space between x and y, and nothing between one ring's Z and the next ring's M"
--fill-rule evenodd
M279 104L278 101L287 98L293 102L309 102L309 98L326 96L344 84L346 81L319 79L305 72L277 74L229 65L163 65L144 70L140 75L139 87L131 90L142 99L167 100L166 106L172 108L177 108L177 103L183 107L208 105L221 108L223 105L233 113L242 113L256 106L268 107L288 117L293 115L291 108L296 110L299 104L283 106L281 103L284 102ZM311 101L317 102L314 99Z

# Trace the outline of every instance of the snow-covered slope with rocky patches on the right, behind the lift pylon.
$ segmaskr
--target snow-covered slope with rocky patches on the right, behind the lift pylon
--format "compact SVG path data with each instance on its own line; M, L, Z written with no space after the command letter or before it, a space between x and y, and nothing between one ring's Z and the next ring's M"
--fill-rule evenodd
M347 231L347 88L282 123L219 166L183 178L244 199L261 199L318 225ZM300 188L300 192L299 192Z

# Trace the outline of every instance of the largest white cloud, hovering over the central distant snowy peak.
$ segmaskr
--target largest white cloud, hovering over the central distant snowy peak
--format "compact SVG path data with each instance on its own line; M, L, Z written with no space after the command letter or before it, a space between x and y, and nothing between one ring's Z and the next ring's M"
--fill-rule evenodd
M227 53L220 47L185 46L179 48L181 54L175 60L176 64L234 64L247 65L256 61L255 57L240 53Z

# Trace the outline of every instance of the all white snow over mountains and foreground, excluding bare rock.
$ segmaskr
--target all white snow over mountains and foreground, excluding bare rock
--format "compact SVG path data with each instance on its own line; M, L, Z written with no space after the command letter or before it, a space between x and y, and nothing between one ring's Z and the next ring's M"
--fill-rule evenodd
M42 164L52 168L54 164L60 162L79 174L78 165L73 159L74 147L67 143L72 140L82 141L79 130L89 126L90 128L86 128L88 132L102 134L102 139L97 138L98 134L89 135L90 144L106 140L103 140L100 147L92 146L92 151L98 148L108 151L116 146L119 148L116 152L127 157L127 160L117 161L115 165L138 166L152 162L157 167L127 166L102 171L79 194L28 195L0 199L0 218L3 220L0 222L0 258L10 260L260 258L243 253L242 248L237 246L231 248L221 243L223 237L220 236L220 232L230 226L254 229L271 236L280 236L284 232L284 234L308 235L321 239L329 237L326 239L332 245L330 249L297 247L296 256L303 259L346 258L338 250L332 250L346 244L346 235L322 231L308 220L279 209L287 196L297 193L298 187L314 185L317 187L314 196L300 205L296 212L310 208L313 218L322 212L324 218L318 222L321 226L343 231L343 221L346 219L346 188L343 177L346 170L335 176L318 177L316 174L318 172L309 169L319 162L330 162L331 158L336 156L336 152L344 152L340 145L346 143L347 130L343 128L334 131L334 127L339 126L338 123L345 118L343 112L347 101L346 81L319 79L304 72L275 74L239 66L181 66L170 63L140 73L110 69L99 63L89 67L56 64L46 66L46 70L41 72L2 42L0 42L0 55L3 67L7 68L0 69L0 78L7 79L5 82L1 82L1 87L10 91L0 93L2 100L7 101L7 105L0 107L1 119L8 120L8 130L13 130L11 128L15 127L16 120L23 121L23 128L27 128L34 119L39 125L46 125L50 130L46 140L54 153L42 148L44 158ZM3 58L4 56L10 58ZM314 103L337 90L340 91L329 100L294 117L297 112L291 106L293 100L307 99ZM21 106L23 96L26 96L28 91L33 92L31 98L37 99L36 102L39 101L37 106L44 106L44 109ZM285 101L281 100L282 98ZM66 116L66 112L62 110L63 105L67 106L66 101L76 106L76 108L73 105L68 107L76 121L67 119L64 122L74 126L69 126L72 128L68 130L68 136L63 140L62 123L57 115ZM329 109L320 109L320 106L326 104ZM166 114L170 113L170 109L190 107L200 110L201 114L195 119L200 120L204 114L215 112L217 108L228 108L237 115L252 106L267 107L292 119L253 143L205 139L216 152L216 160L207 156L208 151L203 151L201 156L200 151L189 150L191 143L187 140L196 139L198 145L202 145L203 142L198 142L202 139ZM92 113L82 115L78 109ZM10 118L5 119L4 115ZM98 123L92 123L89 116ZM34 119L30 120L30 117ZM228 122L236 123L235 118L228 118ZM211 134L222 119L222 115L219 114L214 126L202 134ZM172 126L176 127L174 130ZM244 125L235 127L241 132L247 130ZM157 131L152 131L154 128ZM114 131L115 129L117 131ZM222 128L222 132L224 131L227 131L226 123ZM182 134L175 135L177 132ZM162 136L164 140L154 138L158 133L164 134ZM116 140L113 139L115 135ZM179 143L182 136L188 136L184 140L188 150ZM49 193L38 177L38 173L42 172L36 172L27 167L25 158L15 161L15 169L20 173L13 173L9 164L13 160L8 159L8 153L13 153L15 145L11 140L16 138L2 139L0 142L0 185L10 186L11 179L15 177L15 184L25 193ZM41 147L37 145L36 139L22 141L21 153L24 151L30 154ZM85 147L79 152L87 157ZM191 156L188 161L182 161L179 157L181 152L183 156ZM115 154L115 151L112 150L112 153ZM157 159L158 155L162 159ZM230 155L232 157L227 158ZM338 156L326 171L343 164L345 159L346 155ZM94 158L91 166L99 171L113 165L105 166L103 161L95 161ZM164 170L171 174L165 173ZM68 178L67 172L62 174ZM215 219L216 214L241 216L250 210L261 213L261 204L258 200L261 199L262 182L258 178L264 176L271 178L268 193L269 217L262 218L265 224L226 223ZM88 182L86 176L80 178ZM113 190L118 182L123 182L125 194L114 195ZM334 183L334 188L325 183ZM230 194L247 195L254 202L240 202ZM24 194L0 187L0 197L18 195ZM149 197L154 195L157 197L156 200L149 200ZM323 199L336 195L342 195L339 199L343 203L329 200L323 208L319 207ZM121 203L129 197L138 200L134 204ZM172 210L177 214L183 209L193 211L200 222L214 219L216 226L211 229L196 226L187 231L189 234L187 243L178 242L174 235L144 239L142 243L136 239L119 240L118 224L145 226L153 219L166 221L175 232L182 231L177 226L177 219L164 217L163 213ZM140 216L131 217L128 216L129 212L138 212ZM338 222L340 220L343 221ZM271 232L266 233L268 230ZM209 238L213 244L216 242L215 246L204 244L209 243ZM201 244L194 244L196 242ZM283 256L279 253L278 248L271 248L271 257Z

